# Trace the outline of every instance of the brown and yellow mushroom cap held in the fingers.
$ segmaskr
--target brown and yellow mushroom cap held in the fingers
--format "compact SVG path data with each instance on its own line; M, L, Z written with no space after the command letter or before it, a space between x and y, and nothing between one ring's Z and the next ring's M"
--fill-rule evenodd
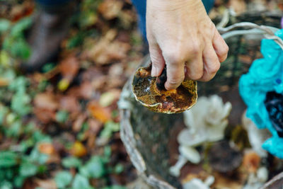
M166 73L166 71L163 71ZM132 90L135 98L149 110L157 113L182 113L197 102L197 82L187 80L173 90L164 88L159 84L166 76L151 77L151 65L141 67L134 74ZM162 82L162 81L161 81Z

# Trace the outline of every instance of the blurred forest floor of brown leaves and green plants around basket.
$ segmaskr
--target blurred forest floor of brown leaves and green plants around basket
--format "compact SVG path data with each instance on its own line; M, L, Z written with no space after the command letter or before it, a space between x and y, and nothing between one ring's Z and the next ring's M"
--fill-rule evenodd
M1 1L0 188L125 188L117 101L147 50L129 0L82 0L56 62L23 74L33 1ZM3 4L3 5L2 5ZM277 1L258 6L282 8ZM246 1L216 1L212 18Z

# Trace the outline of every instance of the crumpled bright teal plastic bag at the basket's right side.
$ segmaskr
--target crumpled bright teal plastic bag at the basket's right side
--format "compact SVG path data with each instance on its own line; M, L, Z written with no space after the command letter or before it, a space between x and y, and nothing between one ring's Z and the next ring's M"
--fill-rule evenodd
M275 35L283 39L283 29ZM260 129L267 128L272 137L262 144L271 154L283 159L283 139L270 122L265 108L265 96L269 91L283 93L283 50L274 40L262 40L262 59L253 62L247 74L241 76L239 91L248 106L247 117Z

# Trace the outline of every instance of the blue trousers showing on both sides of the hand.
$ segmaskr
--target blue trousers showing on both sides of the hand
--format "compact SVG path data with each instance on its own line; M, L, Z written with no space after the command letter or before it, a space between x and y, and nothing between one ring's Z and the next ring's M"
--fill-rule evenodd
M207 13L214 6L214 0L202 0ZM139 29L144 39L146 39L146 0L132 0L132 4L137 10L138 19L139 19Z

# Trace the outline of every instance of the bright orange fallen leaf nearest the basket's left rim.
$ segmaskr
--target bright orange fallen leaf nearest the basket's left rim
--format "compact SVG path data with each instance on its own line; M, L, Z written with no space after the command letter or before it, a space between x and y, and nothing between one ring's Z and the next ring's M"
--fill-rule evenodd
M88 111L93 118L96 118L100 122L108 122L111 119L111 112L108 108L103 108L96 101L88 103Z

